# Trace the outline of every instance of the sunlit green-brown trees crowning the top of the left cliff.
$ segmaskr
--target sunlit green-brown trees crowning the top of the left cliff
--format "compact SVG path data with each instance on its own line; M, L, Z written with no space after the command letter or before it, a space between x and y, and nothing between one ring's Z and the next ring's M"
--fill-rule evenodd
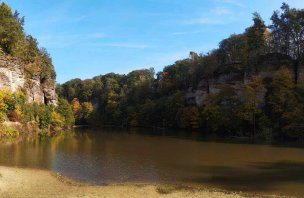
M34 37L24 32L23 25L24 17L20 17L17 11L13 13L7 4L0 4L0 47L3 52L22 62L28 78L38 75L41 82L55 80L50 55L45 48L39 48Z

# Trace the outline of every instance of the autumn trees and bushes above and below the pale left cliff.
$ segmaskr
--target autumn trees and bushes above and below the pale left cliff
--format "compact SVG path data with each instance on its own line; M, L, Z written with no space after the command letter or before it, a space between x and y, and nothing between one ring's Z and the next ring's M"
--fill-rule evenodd
M26 90L31 87L30 79L40 79L41 84L52 86L56 73L46 49L39 48L37 40L24 32L23 25L24 17L0 3L0 55L20 62L26 77L25 86L15 93L0 90L0 138L18 137L20 132L51 133L74 125L67 100L59 99L56 107L28 102ZM7 121L15 124L5 124Z

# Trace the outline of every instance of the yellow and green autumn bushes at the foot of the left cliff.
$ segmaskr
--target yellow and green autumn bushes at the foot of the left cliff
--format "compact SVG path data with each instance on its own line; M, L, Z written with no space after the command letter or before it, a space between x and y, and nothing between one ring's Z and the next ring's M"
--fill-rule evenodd
M8 122L9 121L9 122ZM70 104L60 99L58 106L28 103L17 91L0 90L0 137L19 137L24 133L51 133L74 124Z

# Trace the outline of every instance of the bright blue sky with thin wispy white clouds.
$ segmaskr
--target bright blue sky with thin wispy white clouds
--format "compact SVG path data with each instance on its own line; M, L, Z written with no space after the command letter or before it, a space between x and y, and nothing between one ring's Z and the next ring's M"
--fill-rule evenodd
M242 33L258 12L270 23L282 0L3 0L51 54L57 82L110 72L161 71ZM285 0L304 8L303 0Z

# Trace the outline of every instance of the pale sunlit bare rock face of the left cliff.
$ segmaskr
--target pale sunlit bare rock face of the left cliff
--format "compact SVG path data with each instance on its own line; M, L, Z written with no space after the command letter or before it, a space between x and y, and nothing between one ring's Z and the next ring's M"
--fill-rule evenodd
M57 105L54 83L41 83L39 76L26 80L24 66L17 59L9 59L0 51L0 89L4 88L13 92L25 89L30 103Z

